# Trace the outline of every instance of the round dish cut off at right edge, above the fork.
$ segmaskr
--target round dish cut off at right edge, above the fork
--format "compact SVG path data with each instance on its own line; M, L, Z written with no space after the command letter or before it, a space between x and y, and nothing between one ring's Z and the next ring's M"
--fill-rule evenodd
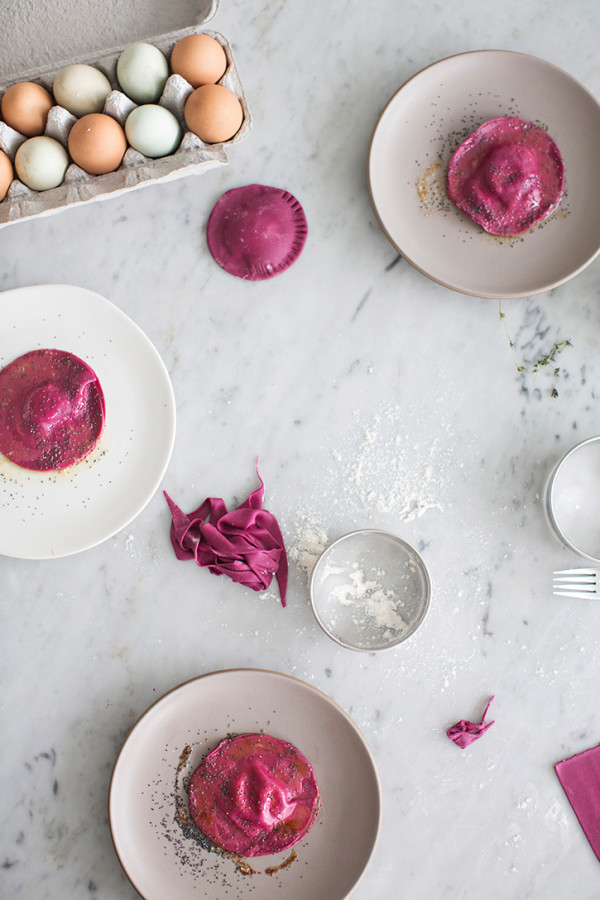
M600 436L559 460L546 489L546 515L565 546L600 562Z

